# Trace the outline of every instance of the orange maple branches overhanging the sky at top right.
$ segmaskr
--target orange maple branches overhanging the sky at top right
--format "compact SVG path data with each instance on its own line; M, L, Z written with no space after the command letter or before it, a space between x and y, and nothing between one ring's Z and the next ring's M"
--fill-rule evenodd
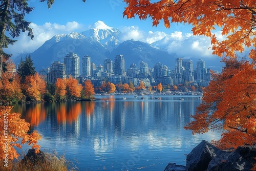
M162 0L151 3L150 0L124 0L127 7L123 17L140 19L152 18L153 26L163 20L166 28L170 23L190 24L194 35L210 37L213 54L235 57L236 51L253 46L249 57L256 57L256 11L255 0L248 1L187 1ZM221 29L224 40L218 40L212 33Z

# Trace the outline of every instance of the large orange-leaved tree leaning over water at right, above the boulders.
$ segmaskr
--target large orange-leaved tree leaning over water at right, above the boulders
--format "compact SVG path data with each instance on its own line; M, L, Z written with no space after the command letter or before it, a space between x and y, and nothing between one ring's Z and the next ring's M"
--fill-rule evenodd
M220 148L237 148L256 143L256 70L248 61L224 60L222 74L212 73L203 101L185 126L195 133L222 131L221 139L212 141Z

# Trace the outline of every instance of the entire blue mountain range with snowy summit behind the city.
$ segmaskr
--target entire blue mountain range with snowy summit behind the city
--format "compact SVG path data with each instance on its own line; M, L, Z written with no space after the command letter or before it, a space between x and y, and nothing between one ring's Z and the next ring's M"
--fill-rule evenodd
M50 67L53 61L63 62L63 58L70 52L76 53L80 60L83 56L89 55L91 62L96 65L103 64L103 60L106 58L114 61L115 56L121 54L125 59L125 70L132 63L135 63L138 68L141 61L146 62L149 67L154 67L155 63L161 62L173 69L175 58L182 58L176 53L168 52L169 44L166 38L153 44L147 44L133 39L121 41L120 37L122 37L122 33L118 29L98 21L89 30L81 33L55 35L30 55L36 70ZM18 61L15 62L19 62L20 58L16 60ZM192 60L196 62L198 59ZM212 63L210 64L212 65ZM218 64L216 63L216 65Z

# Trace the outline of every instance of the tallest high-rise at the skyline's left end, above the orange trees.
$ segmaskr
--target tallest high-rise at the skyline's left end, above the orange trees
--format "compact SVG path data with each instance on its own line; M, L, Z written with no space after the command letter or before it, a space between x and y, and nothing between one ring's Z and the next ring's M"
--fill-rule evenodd
M70 53L64 57L64 63L66 65L66 74L69 77L71 75L74 78L79 77L79 56L75 53Z

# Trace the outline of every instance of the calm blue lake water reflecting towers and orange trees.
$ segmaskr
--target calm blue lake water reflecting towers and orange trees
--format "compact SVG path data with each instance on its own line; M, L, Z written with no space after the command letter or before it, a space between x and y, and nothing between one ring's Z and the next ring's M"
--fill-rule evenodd
M200 104L198 96L122 97L16 105L14 111L39 132L41 149L65 154L79 170L164 170L168 162L185 165L185 154L203 139L220 138L183 129Z

